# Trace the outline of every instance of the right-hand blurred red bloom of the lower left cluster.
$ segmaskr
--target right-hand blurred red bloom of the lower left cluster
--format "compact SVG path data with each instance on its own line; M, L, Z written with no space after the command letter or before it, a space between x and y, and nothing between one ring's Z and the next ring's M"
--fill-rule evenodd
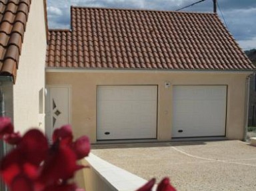
M69 125L57 128L53 132L53 145L41 168L37 186L67 185L59 184L59 181L67 182L69 178L73 178L77 170L84 167L77 165L77 159L89 154L89 138L82 136L75 142L72 141L73 134Z

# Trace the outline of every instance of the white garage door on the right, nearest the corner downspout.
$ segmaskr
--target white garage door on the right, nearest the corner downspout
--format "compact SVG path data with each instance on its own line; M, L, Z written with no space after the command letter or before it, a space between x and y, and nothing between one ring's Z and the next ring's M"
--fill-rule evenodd
M175 137L225 136L226 86L174 86Z

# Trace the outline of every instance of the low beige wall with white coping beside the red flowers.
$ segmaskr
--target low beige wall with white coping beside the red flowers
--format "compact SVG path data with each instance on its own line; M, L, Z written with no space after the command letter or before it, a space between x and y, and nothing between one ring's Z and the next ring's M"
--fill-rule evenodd
M147 180L127 172L90 153L83 165L90 168L83 170L83 181L79 186L90 191L132 191L143 186Z

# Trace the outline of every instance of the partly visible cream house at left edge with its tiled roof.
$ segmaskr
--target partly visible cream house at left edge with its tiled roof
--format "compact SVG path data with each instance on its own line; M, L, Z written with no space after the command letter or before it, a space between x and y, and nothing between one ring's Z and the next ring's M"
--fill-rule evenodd
M15 130L44 130L45 0L0 0L1 115Z

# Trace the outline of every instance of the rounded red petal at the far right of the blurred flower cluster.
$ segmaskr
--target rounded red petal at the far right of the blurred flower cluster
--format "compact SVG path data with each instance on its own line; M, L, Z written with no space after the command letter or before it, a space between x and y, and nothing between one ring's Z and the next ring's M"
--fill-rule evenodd
M87 136L81 136L75 140L73 144L73 151L77 155L77 159L81 159L85 156L88 156L90 152L90 142Z

